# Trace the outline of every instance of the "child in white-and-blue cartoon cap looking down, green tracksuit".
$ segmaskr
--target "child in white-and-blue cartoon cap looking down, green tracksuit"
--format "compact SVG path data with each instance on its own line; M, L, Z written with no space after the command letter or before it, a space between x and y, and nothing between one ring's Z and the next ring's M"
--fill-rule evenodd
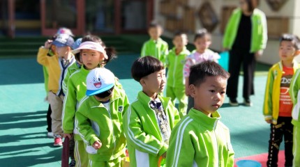
M87 97L80 102L75 119L77 131L87 144L89 166L121 166L125 157L122 118L129 102L114 83L114 74L103 67L87 75Z

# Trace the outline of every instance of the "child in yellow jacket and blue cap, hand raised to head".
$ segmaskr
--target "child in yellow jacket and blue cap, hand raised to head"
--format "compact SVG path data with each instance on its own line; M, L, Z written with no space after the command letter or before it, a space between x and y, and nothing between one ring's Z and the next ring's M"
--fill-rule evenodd
M71 53L73 43L74 40L70 35L59 34L53 42L52 40L47 40L45 47L41 47L38 51L38 63L46 66L49 72L48 100L52 109L51 118L54 146L62 145L61 111L63 106L63 92L61 90L61 83L66 68L75 63L75 58ZM51 45L56 46L57 53L48 54L49 56L47 56Z

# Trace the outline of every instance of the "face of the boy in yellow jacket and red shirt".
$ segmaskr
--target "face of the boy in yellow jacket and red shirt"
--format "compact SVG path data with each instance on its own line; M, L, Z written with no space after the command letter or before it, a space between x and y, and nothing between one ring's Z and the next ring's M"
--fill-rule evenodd
M281 61L293 61L297 50L292 41L283 40L280 42L279 57Z

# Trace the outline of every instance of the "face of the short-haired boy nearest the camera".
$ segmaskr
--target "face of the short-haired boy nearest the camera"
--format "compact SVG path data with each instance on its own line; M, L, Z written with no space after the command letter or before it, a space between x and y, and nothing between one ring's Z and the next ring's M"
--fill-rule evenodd
M222 106L226 93L227 79L223 77L206 77L199 86L189 86L194 98L194 108L207 116Z

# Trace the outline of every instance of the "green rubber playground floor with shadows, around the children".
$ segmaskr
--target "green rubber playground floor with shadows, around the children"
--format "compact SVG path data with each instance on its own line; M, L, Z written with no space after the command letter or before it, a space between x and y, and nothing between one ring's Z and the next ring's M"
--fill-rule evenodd
M137 54L120 55L107 64L119 78L130 102L140 84L131 79L130 67ZM46 136L46 113L42 67L35 57L0 58L0 166L61 166L61 148ZM260 65L259 65L260 66ZM236 158L267 152L269 125L262 116L266 65L255 75L253 106L232 107L228 99L221 107L221 121L230 128ZM239 90L242 86L242 76ZM242 102L239 91L239 102ZM282 148L282 147L281 147Z

